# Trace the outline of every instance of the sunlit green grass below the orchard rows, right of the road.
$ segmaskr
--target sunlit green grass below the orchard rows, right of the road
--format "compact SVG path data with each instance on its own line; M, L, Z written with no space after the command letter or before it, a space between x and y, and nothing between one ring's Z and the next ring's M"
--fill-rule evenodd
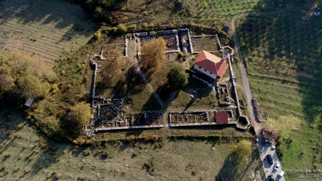
M251 75L249 83L265 116L277 119L280 115L293 114L303 123L299 130L292 132L293 141L286 148L285 155L280 158L283 170L295 174L286 174L286 178L294 179L301 174L296 170L321 168L321 161L314 158L320 158L320 150L312 149L319 145L322 138L319 127L322 111L321 89Z

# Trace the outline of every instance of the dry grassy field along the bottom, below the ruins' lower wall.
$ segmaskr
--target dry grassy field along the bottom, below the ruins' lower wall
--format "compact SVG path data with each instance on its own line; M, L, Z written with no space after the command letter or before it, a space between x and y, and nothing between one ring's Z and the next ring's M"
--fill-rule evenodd
M3 180L265 180L257 150L238 160L233 137L164 139L161 147L144 141L78 147L42 138L16 110L0 116Z

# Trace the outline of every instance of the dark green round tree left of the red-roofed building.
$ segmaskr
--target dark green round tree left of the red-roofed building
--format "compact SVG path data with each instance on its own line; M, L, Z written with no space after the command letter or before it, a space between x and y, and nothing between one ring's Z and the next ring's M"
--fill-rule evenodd
M188 84L189 74L182 65L175 65L171 67L168 72L168 83L176 90L184 88Z

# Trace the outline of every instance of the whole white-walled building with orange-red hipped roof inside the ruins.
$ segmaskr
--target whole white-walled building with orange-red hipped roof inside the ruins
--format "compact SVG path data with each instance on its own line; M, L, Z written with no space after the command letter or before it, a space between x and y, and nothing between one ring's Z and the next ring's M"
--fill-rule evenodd
M213 79L220 79L228 67L229 65L223 59L202 50L195 61L194 70Z

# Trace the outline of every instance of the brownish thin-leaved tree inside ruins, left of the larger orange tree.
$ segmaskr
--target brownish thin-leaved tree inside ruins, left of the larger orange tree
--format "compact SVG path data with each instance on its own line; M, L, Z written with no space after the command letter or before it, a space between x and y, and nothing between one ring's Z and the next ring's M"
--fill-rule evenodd
M107 59L105 60L104 75L111 78L126 66L126 59L123 57L119 49L111 49L107 51Z

